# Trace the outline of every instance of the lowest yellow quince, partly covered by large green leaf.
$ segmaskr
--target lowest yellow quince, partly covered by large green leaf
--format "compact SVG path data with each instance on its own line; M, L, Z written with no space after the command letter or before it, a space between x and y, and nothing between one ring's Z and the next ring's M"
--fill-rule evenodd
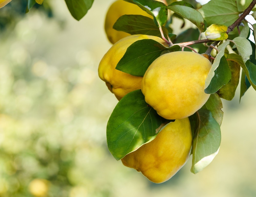
M122 158L154 183L169 180L187 162L192 145L188 118L170 122L154 140Z

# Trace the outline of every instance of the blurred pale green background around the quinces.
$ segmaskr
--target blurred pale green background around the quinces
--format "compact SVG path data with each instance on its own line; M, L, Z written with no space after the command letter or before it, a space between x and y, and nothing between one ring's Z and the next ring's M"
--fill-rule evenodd
M106 145L118 101L97 69L111 47L103 27L113 1L95 1L80 21L63 0L26 15L22 2L0 9L0 196L256 196L252 88L240 104L239 91L223 100L222 142L206 169L190 173L190 158L154 184Z

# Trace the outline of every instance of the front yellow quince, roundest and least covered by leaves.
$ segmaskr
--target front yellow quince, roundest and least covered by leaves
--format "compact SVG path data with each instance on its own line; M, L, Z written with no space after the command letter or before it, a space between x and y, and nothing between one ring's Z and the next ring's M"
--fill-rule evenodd
M158 57L142 80L145 101L166 119L194 114L209 99L204 89L210 68L210 61L194 52L177 51Z

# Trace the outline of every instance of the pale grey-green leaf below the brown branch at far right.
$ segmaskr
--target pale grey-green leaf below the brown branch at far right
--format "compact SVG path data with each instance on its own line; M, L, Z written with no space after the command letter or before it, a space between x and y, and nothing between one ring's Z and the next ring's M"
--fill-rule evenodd
M252 54L252 46L250 42L243 37L236 37L233 39L233 42L235 43L239 54L243 58L244 63L246 63Z

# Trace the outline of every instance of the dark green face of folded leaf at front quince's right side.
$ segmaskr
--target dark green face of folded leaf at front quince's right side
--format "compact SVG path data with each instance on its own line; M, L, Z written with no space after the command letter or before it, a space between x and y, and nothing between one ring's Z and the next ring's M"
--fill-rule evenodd
M217 92L223 85L226 85L231 79L231 71L228 66L226 57L223 55L220 59L219 66L214 71L214 77L205 89L205 93L212 94Z

